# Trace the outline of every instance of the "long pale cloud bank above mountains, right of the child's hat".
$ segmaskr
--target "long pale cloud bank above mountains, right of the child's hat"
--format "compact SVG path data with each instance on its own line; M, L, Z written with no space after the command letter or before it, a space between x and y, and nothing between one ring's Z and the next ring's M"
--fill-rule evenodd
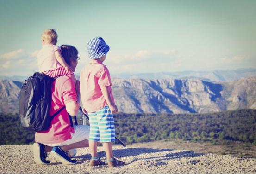
M110 71L119 73L149 73L175 71L208 71L232 70L239 68L254 68L256 58L242 55L211 56L211 55L184 55L170 49L162 52L140 50L124 56L113 54L106 59Z

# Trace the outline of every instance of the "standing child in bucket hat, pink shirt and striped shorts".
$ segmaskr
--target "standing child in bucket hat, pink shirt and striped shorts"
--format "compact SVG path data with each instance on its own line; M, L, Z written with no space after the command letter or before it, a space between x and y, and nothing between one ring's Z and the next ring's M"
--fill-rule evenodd
M106 53L109 46L101 37L87 43L91 59L81 70L80 91L83 111L88 113L90 122L89 146L92 159L89 166L105 165L97 156L97 143L102 143L109 167L123 166L125 162L113 157L111 142L115 141L113 114L118 112L111 91L111 79L106 65Z

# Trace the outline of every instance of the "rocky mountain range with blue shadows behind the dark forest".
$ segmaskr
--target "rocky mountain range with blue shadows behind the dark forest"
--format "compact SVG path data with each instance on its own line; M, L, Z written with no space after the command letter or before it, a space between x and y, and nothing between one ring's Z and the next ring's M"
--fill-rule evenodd
M22 82L0 80L0 112L19 111ZM120 112L208 113L256 109L256 76L236 81L112 79Z

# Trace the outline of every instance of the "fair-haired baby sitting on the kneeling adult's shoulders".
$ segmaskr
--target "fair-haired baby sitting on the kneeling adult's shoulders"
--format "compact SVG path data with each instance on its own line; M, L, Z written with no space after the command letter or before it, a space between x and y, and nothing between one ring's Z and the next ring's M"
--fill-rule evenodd
M71 75L74 70L61 55L61 48L56 46L57 33L55 29L47 29L41 35L42 49L37 53L37 65L40 73L50 77ZM72 75L75 81L75 75Z

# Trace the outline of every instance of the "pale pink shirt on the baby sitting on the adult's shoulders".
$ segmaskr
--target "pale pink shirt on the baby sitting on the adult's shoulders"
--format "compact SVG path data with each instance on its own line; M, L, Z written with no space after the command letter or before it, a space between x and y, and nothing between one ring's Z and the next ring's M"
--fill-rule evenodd
M62 66L55 57L57 50L61 50L61 48L56 45L45 44L37 53L37 65L40 73L55 70Z

